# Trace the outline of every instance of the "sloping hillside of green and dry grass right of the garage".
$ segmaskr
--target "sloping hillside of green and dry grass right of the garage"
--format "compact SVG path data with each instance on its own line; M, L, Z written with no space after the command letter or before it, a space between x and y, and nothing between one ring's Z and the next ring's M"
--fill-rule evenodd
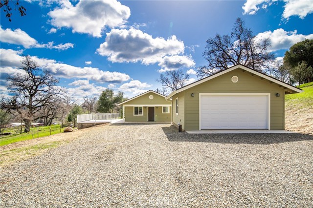
M285 96L285 129L313 135L313 82L300 88L303 93Z

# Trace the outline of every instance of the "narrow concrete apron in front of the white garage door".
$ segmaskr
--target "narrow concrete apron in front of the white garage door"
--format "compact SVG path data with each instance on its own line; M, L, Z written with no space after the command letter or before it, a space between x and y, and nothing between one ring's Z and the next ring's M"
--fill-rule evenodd
M188 134L291 134L296 133L286 130L267 129L216 129L216 130L190 130Z

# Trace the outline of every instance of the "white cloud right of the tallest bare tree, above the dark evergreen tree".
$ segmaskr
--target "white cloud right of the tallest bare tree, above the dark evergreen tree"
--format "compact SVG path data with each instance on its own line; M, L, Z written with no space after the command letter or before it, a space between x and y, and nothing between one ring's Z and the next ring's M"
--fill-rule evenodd
M305 39L313 39L313 34L301 35L296 34L297 31L287 32L282 28L272 31L266 31L259 33L256 36L258 40L270 39L271 48L270 51L277 51L280 49L289 49L293 44L304 41Z

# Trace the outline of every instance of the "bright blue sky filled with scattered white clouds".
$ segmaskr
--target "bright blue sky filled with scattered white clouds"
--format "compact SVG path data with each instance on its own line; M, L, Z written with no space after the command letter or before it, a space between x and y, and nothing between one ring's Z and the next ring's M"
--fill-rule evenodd
M112 88L128 98L161 88L160 73L182 69L190 81L205 41L229 34L242 18L257 37L270 38L281 60L299 41L313 39L313 0L27 0L26 16L0 16L0 90L20 73L22 55L60 79L82 101Z

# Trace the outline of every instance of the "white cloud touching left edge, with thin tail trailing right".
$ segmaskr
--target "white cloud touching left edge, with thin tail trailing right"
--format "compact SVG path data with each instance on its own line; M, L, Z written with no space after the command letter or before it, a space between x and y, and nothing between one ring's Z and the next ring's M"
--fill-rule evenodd
M74 47L74 44L70 42L67 42L65 44L61 43L58 45L54 45L54 42L40 44L21 29L11 30L7 28L3 30L1 26L0 37L1 42L22 45L24 48L49 48L57 50L67 50L68 48Z

